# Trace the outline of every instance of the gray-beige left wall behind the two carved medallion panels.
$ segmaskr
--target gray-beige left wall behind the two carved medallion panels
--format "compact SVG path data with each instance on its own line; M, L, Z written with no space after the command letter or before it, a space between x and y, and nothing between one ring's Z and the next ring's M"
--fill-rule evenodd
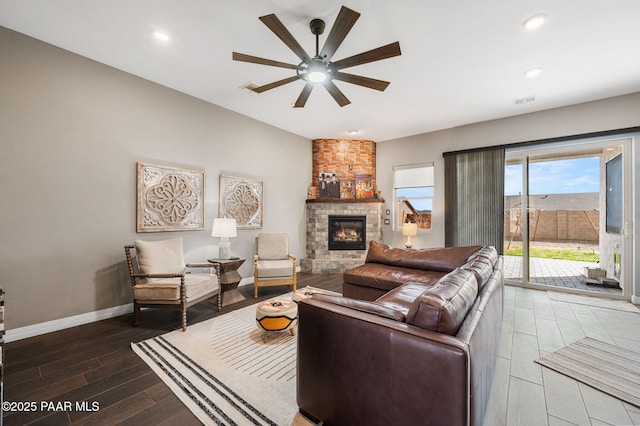
M221 173L264 181L264 227L240 230L232 254L287 232L303 257L311 141L2 27L0 63L9 330L131 303L123 245L136 238L182 236L188 262L214 257ZM137 161L206 171L204 231L136 233Z

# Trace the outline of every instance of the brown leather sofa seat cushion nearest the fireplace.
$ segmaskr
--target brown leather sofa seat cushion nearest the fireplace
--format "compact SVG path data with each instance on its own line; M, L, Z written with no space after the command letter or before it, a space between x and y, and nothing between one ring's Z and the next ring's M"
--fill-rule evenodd
M343 274L345 283L362 287L373 287L380 290L393 290L407 282L433 285L446 275L439 271L422 271L419 269L390 267L380 263L365 263Z

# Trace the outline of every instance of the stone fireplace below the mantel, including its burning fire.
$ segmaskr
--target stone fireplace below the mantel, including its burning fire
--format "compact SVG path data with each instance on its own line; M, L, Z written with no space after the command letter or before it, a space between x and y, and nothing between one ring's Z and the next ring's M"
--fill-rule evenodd
M369 242L382 241L383 205L377 199L307 200L307 257L300 261L302 272L339 273L362 265ZM337 238L349 245L342 244L340 249L329 248L332 223L336 225L334 232L338 232ZM353 244L358 239L356 235L360 225L363 227L360 232L364 248Z

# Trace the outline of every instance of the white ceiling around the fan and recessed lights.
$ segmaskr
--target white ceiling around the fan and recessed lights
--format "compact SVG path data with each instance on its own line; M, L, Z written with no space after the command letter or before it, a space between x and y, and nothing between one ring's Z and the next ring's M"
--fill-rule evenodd
M258 17L275 13L313 55L309 21L326 21L322 46L342 5L361 16L333 60L400 42L402 56L347 70L390 81L385 92L338 81L350 105L316 87L294 109L301 81L240 89L294 71L232 51L299 62ZM546 25L525 32L540 12ZM378 142L640 91L639 16L638 0L0 0L7 28L309 139Z

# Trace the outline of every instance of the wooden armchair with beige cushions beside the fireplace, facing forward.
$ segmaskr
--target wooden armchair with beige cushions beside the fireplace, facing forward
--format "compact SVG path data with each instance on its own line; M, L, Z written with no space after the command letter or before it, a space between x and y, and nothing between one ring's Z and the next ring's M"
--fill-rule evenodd
M287 234L259 234L256 237L253 256L253 298L258 298L258 288L291 285L296 291L296 257L289 253Z

